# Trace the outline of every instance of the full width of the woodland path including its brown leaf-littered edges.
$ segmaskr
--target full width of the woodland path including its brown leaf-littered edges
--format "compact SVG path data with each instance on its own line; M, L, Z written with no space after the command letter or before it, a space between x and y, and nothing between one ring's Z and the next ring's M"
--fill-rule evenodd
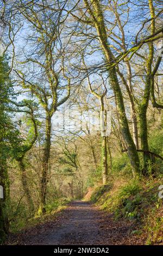
M18 245L124 245L142 243L129 236L130 225L114 222L112 215L88 202L74 201L47 223L10 235Z

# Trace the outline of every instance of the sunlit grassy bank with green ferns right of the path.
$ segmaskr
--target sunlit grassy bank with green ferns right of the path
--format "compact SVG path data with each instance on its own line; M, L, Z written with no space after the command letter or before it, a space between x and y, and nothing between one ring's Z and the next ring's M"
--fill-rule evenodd
M163 176L148 179L121 177L96 187L91 201L114 214L115 220L131 222L131 234L142 236L147 245L163 243L163 199L159 198Z

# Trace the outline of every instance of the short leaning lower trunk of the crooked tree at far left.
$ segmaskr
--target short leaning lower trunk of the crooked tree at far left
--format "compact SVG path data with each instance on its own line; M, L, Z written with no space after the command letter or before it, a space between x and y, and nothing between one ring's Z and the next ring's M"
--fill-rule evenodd
M30 192L29 187L28 187L26 167L25 167L25 164L23 162L23 159L18 160L18 164L19 164L19 167L20 167L20 170L21 170L22 186L23 186L24 193L26 194L26 197L27 197L28 209L30 211L30 214L33 215L33 213L34 213L34 203L33 203L33 199L32 199L32 196L31 196L31 192Z

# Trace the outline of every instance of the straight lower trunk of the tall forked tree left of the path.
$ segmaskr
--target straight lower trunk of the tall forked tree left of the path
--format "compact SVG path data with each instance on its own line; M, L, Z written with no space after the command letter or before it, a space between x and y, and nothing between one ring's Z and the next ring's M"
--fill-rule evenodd
M48 182L48 163L51 151L51 117L47 115L46 118L46 138L45 138L45 148L43 151L43 160L42 160L42 178L41 178L41 205L40 210L45 214L46 209L46 192L47 192L47 182Z

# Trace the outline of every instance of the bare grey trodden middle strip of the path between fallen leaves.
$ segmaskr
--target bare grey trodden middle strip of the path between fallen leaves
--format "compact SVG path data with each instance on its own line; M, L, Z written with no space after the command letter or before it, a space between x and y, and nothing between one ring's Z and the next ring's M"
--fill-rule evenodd
M93 245L99 237L97 210L89 203L75 201L65 211L65 221L59 229L49 234L46 245Z

